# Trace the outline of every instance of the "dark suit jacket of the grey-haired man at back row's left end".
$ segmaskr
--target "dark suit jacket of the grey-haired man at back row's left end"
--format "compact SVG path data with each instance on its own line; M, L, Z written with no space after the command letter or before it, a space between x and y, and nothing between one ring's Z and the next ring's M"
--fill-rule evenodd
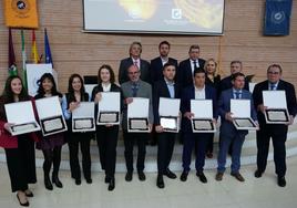
M119 69L119 83L122 84L129 81L127 69L133 65L132 58L126 58L121 61ZM150 63L141 59L141 80L151 83Z

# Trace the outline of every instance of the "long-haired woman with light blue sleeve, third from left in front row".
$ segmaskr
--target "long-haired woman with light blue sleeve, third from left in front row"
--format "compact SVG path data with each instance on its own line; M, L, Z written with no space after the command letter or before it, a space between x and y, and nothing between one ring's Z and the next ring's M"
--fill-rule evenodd
M70 156L71 177L76 185L81 185L81 167L79 162L79 145L82 153L82 169L88 184L92 184L91 178L91 156L90 142L93 137L89 132L72 131L72 112L79 107L80 102L88 102L89 94L84 90L83 80L79 74L72 74L69 79L68 93L63 96L62 110L68 124L68 145Z

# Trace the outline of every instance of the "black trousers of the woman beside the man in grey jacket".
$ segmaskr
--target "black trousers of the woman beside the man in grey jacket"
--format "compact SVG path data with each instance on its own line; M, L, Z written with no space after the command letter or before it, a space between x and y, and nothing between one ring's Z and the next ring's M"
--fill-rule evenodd
M101 168L107 178L114 178L119 126L96 126L96 144Z

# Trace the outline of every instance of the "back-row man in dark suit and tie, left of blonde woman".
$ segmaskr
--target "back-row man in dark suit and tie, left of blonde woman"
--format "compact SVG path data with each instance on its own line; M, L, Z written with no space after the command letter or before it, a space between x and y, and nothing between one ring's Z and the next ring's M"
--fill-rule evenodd
M182 87L193 85L193 74L195 69L204 69L205 60L199 59L199 45L191 45L188 50L190 58L180 63L177 80Z

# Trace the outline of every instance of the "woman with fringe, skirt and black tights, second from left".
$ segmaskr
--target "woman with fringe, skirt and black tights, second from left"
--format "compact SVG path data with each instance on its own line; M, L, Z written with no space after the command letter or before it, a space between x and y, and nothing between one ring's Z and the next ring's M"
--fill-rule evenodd
M44 73L38 81L39 89L35 100L59 96L62 97L62 94L57 91L57 85L52 74ZM55 184L58 188L62 188L63 185L59 179L59 169L61 163L61 149L64 144L63 133L58 133L49 136L42 136L42 139L37 143L37 148L41 149L44 156L43 162L43 173L44 173L44 186L48 190L52 190L52 183ZM53 165L52 171L52 183L50 180L50 170Z

